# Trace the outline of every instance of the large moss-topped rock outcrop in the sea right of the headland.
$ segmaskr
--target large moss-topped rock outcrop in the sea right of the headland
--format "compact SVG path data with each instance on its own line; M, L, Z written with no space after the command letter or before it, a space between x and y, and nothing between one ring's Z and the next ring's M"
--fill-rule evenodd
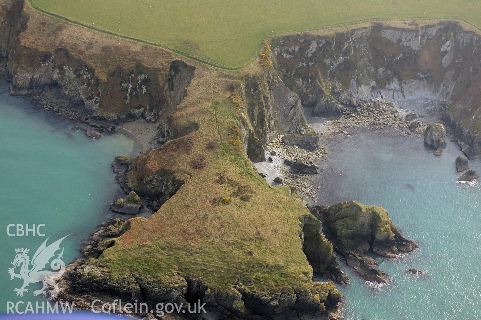
M394 258L418 248L414 241L402 236L381 207L350 201L313 213L322 221L324 234L346 258L347 265L369 281L386 282L386 273L374 269L378 263L365 255L368 250Z

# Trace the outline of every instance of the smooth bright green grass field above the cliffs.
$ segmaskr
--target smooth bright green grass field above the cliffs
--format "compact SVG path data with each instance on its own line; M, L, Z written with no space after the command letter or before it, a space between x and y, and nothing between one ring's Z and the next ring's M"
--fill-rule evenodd
M41 12L167 47L224 68L248 64L256 55L262 37L289 31L399 18L459 17L481 26L479 0L31 0L31 3Z

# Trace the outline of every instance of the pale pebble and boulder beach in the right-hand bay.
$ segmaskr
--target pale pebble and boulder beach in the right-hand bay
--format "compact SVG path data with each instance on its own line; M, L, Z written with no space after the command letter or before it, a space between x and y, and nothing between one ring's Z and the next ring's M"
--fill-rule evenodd
M325 170L323 164L329 161L329 144L333 138L344 137L348 139L360 130L378 132L396 130L396 132L403 132L406 136L424 136L428 127L426 122L441 121L440 114L442 111L440 110L446 106L444 100L433 101L435 102L434 106L425 115L420 116L408 109L398 107L395 102L389 100L379 98L372 98L365 102L354 100L354 103L344 105L344 111L340 116L328 118L327 121L323 122L323 130L316 130L319 137L319 147L315 151L305 150L295 145L287 145L282 142L282 137L279 136L266 146L267 163L265 165L257 163L256 166L261 173L264 173L263 170L267 171L273 167L273 170L269 170L271 177L267 178L268 182L272 183L275 178L278 178L277 184L295 187L306 204L314 205L319 200L317 190L320 188L320 180L315 178L315 174ZM316 170L311 172L296 170L291 166L295 161L304 162L309 166L314 165ZM269 165L269 162L272 164ZM342 176L342 172L329 174ZM312 184L313 180L316 180L316 185Z

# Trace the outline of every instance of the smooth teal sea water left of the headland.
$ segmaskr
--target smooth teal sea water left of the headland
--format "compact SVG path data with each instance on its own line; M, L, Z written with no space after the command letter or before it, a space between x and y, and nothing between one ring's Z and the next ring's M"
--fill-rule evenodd
M79 249L97 225L119 216L109 209L110 202L124 195L111 164L117 155L138 154L138 147L122 134L91 140L71 125L31 101L10 96L8 83L0 82L0 314L6 312L6 301L41 299L34 297L39 283L29 284L23 297L13 292L23 283L10 280L7 273L14 249L28 248L32 258L47 237L51 236L48 245L71 234L60 247L63 261L70 263L81 257ZM26 224L29 228L45 224L39 229L45 237L32 236L32 231L28 237L10 237L10 224L24 225L24 230ZM15 229L11 227L10 233L16 234Z

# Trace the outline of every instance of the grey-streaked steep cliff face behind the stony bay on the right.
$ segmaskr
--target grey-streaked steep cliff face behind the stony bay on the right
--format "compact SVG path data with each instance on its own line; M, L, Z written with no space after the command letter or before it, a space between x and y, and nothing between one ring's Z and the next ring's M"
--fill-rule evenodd
M445 118L481 153L480 36L452 22L369 27L271 40L276 70L304 106L320 115L342 113L358 100L440 97Z

